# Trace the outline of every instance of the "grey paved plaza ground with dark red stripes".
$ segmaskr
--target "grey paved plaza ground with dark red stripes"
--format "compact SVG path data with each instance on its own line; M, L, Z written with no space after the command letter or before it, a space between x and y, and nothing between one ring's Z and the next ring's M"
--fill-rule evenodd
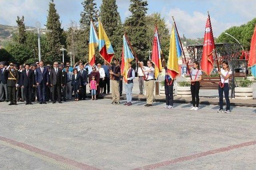
M255 169L256 108L0 103L0 169ZM124 101L122 101L124 103Z

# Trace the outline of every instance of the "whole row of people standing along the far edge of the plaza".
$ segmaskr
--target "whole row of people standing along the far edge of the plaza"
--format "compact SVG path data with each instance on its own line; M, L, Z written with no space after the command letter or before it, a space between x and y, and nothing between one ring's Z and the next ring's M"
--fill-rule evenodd
M152 61L147 61L147 66L143 62L138 62L138 82L140 94L143 94L144 88L146 93L146 107L150 107L154 100L154 66ZM164 62L163 66L167 70ZM56 102L72 100L86 100L86 86L89 85L91 100L97 100L102 94L109 94L110 87L112 91L112 103L120 104L122 96L122 76L120 64L114 59L111 65L104 61L104 64L89 63L83 64L82 61L71 66L69 62L54 62L44 65L43 61L34 64L23 64L18 67L14 63L7 64L0 62L0 102L9 102L9 105L17 105L17 101L32 104L36 100L40 104L46 104L50 101ZM228 62L222 62L222 68L218 71L220 75L219 83L219 105L218 112L230 113L229 101L229 76L232 74ZM190 110L199 108L199 89L200 80L202 80L202 71L199 63L193 62L193 68L190 70L191 75L191 94L193 107ZM132 88L134 85L135 70L132 64L128 63L128 75L125 82L126 102L124 105L132 105ZM175 80L175 79L174 79ZM173 108L173 84L171 76L166 72L164 79L166 106L164 108ZM223 110L223 92L226 99L226 111Z

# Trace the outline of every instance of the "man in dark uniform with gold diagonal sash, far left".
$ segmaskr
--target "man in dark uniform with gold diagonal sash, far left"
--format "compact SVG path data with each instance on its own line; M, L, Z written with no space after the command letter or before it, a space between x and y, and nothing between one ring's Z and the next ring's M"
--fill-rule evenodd
M5 74L7 74L7 88L8 88L8 94L9 94L9 105L17 105L16 102L16 87L17 82L19 82L19 74L18 70L14 69L14 64L10 63L10 68L6 70Z

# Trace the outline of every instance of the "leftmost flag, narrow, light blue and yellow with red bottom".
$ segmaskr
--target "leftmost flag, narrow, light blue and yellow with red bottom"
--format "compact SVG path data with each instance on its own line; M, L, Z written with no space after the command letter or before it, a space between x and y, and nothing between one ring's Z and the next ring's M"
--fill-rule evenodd
M99 45L99 39L91 21L90 25L90 40L89 40L89 63L91 66L95 64L95 48Z

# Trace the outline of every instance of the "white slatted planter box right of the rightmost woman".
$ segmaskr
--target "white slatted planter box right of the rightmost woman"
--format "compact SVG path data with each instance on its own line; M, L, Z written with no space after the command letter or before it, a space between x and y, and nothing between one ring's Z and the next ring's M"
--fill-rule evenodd
M235 87L235 99L251 100L253 99L252 87Z

